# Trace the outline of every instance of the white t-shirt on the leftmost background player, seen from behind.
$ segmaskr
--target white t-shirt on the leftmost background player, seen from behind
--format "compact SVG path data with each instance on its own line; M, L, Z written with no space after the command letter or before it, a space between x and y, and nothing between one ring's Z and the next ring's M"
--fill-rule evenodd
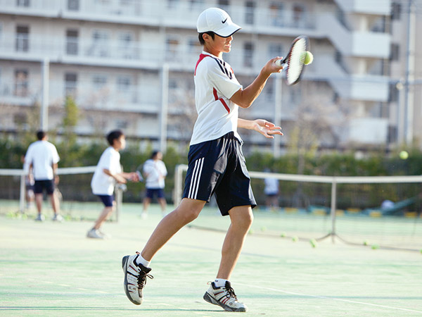
M25 155L25 172L29 171L32 164L34 180L52 180L53 164L58 163L60 157L54 144L48 141L36 141L28 147Z

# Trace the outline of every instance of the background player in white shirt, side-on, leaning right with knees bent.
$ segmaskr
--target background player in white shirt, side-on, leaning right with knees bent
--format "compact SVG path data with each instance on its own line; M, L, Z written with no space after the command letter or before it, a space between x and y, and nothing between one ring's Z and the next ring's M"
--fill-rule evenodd
M120 166L119 151L126 147L126 139L120 130L111 131L107 135L108 147L101 154L100 161L96 166L96 170L91 180L92 192L103 201L104 209L94 223L94 227L88 231L87 237L94 239L104 239L108 237L102 230L101 226L104 221L115 211L115 199L113 196L116 182L125 184L127 180L138 181L136 173L124 173Z

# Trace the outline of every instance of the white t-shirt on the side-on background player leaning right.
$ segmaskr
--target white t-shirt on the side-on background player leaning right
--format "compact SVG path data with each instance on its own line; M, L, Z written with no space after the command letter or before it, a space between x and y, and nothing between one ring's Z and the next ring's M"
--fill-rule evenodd
M104 173L104 169L110 170L112 174L122 173L120 153L113 147L108 147L103 151L91 180L93 194L110 196L114 192L115 179Z

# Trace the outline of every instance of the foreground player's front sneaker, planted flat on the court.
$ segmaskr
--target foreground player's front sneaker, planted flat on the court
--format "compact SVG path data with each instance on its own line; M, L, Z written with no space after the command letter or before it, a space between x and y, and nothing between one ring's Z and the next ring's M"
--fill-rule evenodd
M216 287L215 282L211 282L210 288L205 292L204 299L206 302L222 306L226 311L248 311L248 307L238 302L236 294L229 281L222 287Z

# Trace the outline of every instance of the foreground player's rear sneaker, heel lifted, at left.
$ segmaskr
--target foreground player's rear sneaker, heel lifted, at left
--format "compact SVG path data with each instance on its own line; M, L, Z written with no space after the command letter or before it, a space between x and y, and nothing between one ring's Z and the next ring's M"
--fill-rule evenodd
M137 264L136 259L139 252L133 256L123 256L122 268L124 272L124 292L129 301L136 305L141 305L143 300L143 286L146 284L146 278L153 278L151 268L146 268L142 264Z

